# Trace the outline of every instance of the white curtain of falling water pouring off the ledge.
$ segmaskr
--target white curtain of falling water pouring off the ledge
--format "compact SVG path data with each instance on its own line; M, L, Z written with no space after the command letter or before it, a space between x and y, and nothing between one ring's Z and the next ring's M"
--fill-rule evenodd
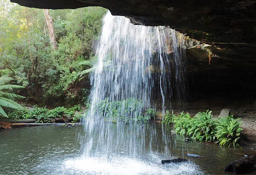
M164 113L172 85L169 76L175 76L176 86L184 83L183 35L169 27L135 26L129 19L107 12L95 47L98 62L91 74L91 107L84 116L84 158L115 162L124 157L135 160L152 156L157 151L152 150L157 144L154 124L146 125L138 118L146 116L145 110L153 105L153 87L160 88ZM158 72L158 79L152 76L154 72ZM178 95L184 92L180 86ZM145 135L145 128L152 131L150 135ZM162 139L168 140L164 135ZM166 157L171 156L168 147L166 142Z

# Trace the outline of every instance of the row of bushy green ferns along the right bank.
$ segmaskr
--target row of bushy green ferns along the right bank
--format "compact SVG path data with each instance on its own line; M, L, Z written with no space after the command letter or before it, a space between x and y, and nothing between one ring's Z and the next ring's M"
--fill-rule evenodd
M217 139L221 146L240 147L239 141L243 130L241 122L239 122L240 118L234 119L232 115L213 120L212 111L209 110L198 112L194 118L191 118L189 113L185 114L184 112L181 112L178 117L173 116L173 118L175 132L180 135L191 136L199 141ZM168 116L163 123L171 123L170 120Z

